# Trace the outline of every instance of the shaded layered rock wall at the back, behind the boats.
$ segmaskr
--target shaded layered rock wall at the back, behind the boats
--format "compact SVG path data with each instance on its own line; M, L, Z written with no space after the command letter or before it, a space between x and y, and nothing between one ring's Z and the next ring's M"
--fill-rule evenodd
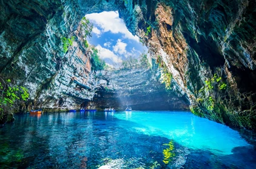
M86 103L90 109L125 110L127 106L133 110L189 109L186 94L177 95L175 88L166 90L158 69L101 71L96 75L96 84L93 101Z

